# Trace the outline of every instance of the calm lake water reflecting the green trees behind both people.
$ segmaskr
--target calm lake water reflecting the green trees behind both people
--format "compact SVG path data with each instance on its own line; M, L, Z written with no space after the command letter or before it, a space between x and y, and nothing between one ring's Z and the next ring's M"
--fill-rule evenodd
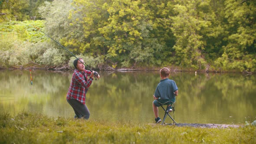
M66 101L72 73L32 70L31 85L29 70L0 71L1 113L31 111L73 118ZM160 81L158 71L99 74L101 78L93 81L86 97L90 119L154 122L152 101ZM174 114L177 123L244 124L256 120L256 75L172 72L170 79L179 88ZM163 118L160 108L159 113Z

